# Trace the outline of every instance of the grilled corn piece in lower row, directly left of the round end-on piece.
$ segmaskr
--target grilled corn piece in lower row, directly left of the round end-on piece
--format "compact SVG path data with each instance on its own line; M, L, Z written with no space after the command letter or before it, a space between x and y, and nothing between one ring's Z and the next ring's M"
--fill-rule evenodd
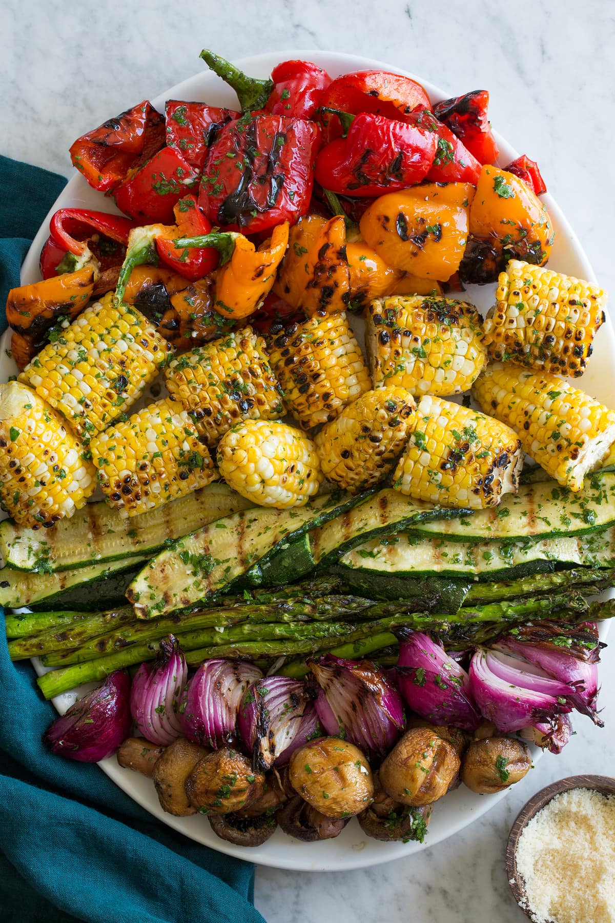
M90 449L105 499L124 517L160 507L218 477L190 416L168 398L93 437Z

